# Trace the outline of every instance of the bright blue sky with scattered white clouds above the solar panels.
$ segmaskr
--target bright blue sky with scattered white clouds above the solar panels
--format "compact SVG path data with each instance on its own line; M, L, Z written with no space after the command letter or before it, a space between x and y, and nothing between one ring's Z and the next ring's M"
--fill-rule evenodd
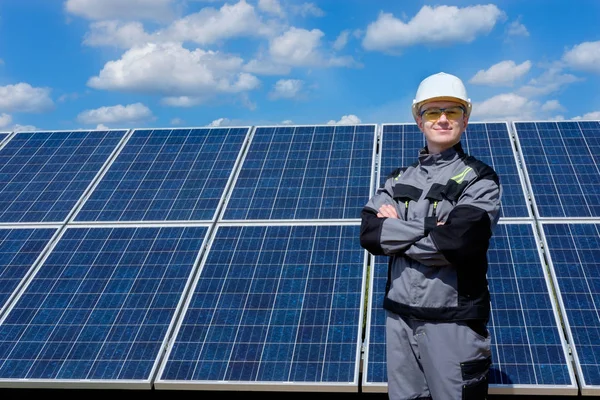
M600 1L1 0L0 130L600 119Z

